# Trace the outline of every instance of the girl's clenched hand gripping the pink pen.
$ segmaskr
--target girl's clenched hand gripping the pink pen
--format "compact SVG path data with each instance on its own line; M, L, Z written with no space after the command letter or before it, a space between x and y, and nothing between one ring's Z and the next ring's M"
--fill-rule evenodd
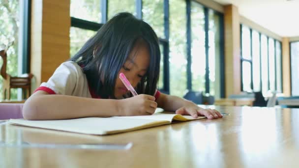
M120 115L151 115L155 112L157 103L155 97L139 94L134 97L120 100Z

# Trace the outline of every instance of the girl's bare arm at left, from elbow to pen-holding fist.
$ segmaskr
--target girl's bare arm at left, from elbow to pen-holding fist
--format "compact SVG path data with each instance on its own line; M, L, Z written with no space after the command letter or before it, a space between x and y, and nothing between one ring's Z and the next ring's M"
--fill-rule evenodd
M52 120L92 116L149 115L156 107L154 97L144 94L115 100L49 95L39 90L25 102L23 117L29 120Z

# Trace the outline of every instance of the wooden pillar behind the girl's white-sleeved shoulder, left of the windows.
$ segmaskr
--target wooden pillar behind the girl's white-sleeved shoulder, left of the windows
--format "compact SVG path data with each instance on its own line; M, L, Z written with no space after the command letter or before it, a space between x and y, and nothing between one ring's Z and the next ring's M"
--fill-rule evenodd
M36 88L69 58L70 0L32 0L31 5L30 68Z

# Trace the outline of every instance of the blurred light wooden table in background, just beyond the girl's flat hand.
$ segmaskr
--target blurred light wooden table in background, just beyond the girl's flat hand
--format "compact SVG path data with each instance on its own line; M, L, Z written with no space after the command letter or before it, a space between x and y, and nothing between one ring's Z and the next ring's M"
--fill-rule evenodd
M215 106L253 106L254 98L239 98L239 99L217 99L214 102Z

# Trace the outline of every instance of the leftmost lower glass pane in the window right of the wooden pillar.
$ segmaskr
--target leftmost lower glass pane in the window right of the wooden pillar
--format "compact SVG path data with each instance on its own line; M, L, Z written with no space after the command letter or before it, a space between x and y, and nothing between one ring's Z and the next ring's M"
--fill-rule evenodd
M242 84L244 91L251 91L251 64L247 61L242 61Z

